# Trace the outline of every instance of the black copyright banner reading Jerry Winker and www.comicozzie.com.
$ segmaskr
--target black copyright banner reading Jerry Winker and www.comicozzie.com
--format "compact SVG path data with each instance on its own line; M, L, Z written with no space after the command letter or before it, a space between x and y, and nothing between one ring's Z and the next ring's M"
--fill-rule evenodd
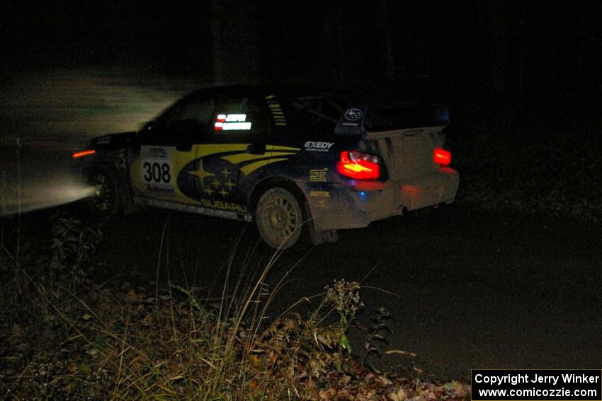
M474 401L602 401L602 370L473 369Z

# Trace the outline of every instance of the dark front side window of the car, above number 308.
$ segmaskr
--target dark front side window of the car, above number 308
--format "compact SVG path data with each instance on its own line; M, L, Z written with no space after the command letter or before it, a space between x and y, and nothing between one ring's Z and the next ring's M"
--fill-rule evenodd
M196 98L170 107L147 125L143 143L181 146L198 143L207 133L215 108L214 98Z

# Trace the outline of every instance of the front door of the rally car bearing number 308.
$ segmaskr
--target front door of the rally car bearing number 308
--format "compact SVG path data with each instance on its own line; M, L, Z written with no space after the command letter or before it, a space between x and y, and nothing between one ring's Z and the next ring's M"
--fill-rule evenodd
M200 95L176 103L140 132L132 153L130 178L138 195L168 202L198 204L198 182L188 178L200 144L208 134L215 98Z

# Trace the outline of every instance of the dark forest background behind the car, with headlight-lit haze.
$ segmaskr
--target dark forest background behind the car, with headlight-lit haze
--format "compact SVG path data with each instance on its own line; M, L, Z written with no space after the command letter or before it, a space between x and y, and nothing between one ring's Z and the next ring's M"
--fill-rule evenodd
M600 21L595 0L8 4L0 143L137 129L215 84L368 90L450 105L460 202L597 220Z

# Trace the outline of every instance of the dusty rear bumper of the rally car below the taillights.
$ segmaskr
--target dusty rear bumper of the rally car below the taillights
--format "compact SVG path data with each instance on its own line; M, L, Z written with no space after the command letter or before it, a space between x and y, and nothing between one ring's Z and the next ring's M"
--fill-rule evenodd
M405 182L359 182L308 187L306 197L318 231L366 227L373 221L441 203L452 203L460 175L452 168Z

